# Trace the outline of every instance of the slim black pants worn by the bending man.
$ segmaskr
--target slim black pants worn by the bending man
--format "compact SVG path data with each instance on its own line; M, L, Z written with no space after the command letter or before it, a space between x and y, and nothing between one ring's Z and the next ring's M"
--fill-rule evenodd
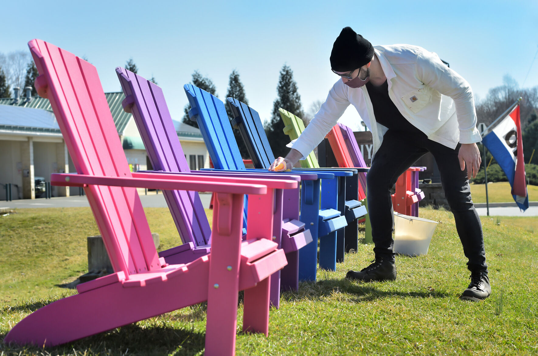
M372 226L372 238L376 257L394 259L392 231L394 215L391 188L407 168L427 152L431 152L441 174L441 184L454 213L456 230L462 241L463 252L469 259L469 270L486 269L486 253L480 218L471 201L467 169L459 168L456 149L429 140L423 133L388 130L383 144L372 160L366 176L368 215Z

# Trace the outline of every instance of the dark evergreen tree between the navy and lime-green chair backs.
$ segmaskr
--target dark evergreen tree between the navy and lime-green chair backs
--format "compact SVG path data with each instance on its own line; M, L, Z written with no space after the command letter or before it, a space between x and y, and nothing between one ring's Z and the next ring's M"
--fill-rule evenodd
M297 83L293 80L292 68L284 65L280 70L280 78L277 85L278 97L273 103L273 115L265 127L267 139L275 157L284 157L289 152L289 148L286 145L290 141L289 136L282 131L284 130L284 122L282 122L278 109L287 110L300 118L305 115L301 107L301 96L297 90Z

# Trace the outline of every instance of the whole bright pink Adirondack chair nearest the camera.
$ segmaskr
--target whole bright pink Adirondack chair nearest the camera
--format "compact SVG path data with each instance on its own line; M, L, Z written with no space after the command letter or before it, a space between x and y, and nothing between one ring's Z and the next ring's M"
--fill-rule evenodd
M259 179L130 173L95 67L41 40L29 47L40 73L36 89L51 101L78 173L52 174L52 184L84 187L115 273L33 312L4 342L58 345L208 301L206 354L233 354L242 289L243 330L267 334L270 276L286 265L270 240L273 189ZM297 184L278 182L282 189ZM214 191L211 253L165 264L134 187ZM242 243L244 194L260 199L249 206L259 217L249 234L258 238Z

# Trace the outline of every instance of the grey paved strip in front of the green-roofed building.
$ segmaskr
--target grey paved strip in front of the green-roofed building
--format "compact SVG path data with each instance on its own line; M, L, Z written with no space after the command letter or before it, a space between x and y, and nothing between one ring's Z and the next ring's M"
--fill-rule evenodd
M209 208L209 202L211 200L211 194L201 193L200 198L204 208ZM165 197L162 193L155 194L150 192L148 195L140 194L140 201L144 208L167 208ZM39 198L39 199L20 199L13 200L11 202L0 202L0 208L76 208L76 207L89 207L88 199L86 196L69 196L69 197L56 197L51 199Z

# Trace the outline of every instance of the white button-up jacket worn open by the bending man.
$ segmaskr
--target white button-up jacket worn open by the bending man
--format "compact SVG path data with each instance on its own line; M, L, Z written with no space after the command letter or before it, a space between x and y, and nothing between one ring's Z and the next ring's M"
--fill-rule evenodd
M436 53L410 45L374 48L387 77L388 95L413 126L430 140L450 148L456 148L458 142L482 141L469 83ZM376 122L366 86L350 88L342 80L332 86L327 100L292 147L305 158L336 125L349 104L355 106L372 131L375 154L388 129Z

